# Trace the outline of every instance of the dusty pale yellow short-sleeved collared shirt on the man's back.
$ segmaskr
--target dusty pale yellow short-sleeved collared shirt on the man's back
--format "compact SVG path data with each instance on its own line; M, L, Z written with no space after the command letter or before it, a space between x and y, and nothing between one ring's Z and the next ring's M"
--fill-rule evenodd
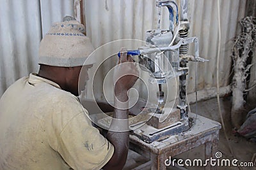
M0 169L100 169L114 148L76 96L30 74L0 99Z

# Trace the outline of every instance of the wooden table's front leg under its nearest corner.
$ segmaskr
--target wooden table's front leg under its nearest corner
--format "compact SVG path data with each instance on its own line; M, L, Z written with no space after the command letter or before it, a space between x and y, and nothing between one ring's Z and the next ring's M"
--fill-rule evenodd
M150 160L152 162L152 170L166 170L166 166L164 164L164 155L156 155L154 153L151 153Z

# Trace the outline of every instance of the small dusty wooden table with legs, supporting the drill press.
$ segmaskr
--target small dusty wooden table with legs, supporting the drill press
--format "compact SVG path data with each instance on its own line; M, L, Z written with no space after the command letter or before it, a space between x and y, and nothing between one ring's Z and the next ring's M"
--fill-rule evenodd
M190 113L189 117L193 117L196 121L189 131L171 136L163 141L154 141L148 144L136 136L130 135L130 149L150 159L150 162L141 165L138 167L139 169L145 166L151 166L151 169L166 169L164 163L166 159L200 145L205 145L205 159L215 158L215 153L218 152L221 124L193 113ZM205 169L215 168L208 164Z

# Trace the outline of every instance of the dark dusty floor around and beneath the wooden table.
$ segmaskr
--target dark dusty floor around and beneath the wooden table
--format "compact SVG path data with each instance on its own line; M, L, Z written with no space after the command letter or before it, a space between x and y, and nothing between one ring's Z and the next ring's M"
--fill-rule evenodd
M237 137L232 134L232 127L230 125L230 100L221 99L221 111L223 114L225 127L228 136L228 142L225 138L225 133L223 128L220 131L220 141L219 141L219 151L223 153L223 159L234 159L234 157L239 160L239 162L251 162L253 155L256 156L256 143L248 141L242 137ZM195 113L196 106L195 104L191 105L191 111ZM198 115L202 115L212 120L221 122L220 114L218 112L218 103L217 99L210 99L208 101L198 103ZM234 155L230 153L228 143L232 148ZM180 159L202 159L204 160L204 146L199 146L193 150L182 153L175 158ZM129 150L127 162L124 169L134 169L141 164L148 162L143 156L138 155L138 153L132 152ZM202 167L186 167L187 169L204 169ZM150 169L150 167L143 168ZM178 169L177 167L168 167L168 169ZM217 169L256 169L256 167L218 167Z

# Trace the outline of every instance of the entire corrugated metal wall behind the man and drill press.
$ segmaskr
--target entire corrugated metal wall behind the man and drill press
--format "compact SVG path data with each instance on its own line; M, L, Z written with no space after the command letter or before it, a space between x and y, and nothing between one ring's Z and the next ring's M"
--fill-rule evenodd
M231 40L236 35L237 21L244 16L246 1L221 0L220 3L220 86L225 86L229 83ZM73 4L72 0L1 0L0 96L13 81L37 71L40 39L52 22L60 21L64 15L74 15ZM84 0L84 10L87 35L92 39L95 48L116 39L144 40L145 31L156 29L155 0ZM217 1L189 0L188 12L191 22L189 35L200 39L200 55L210 60L198 64L198 87L215 87L218 45ZM162 13L162 27L167 28L168 12L163 10ZM119 49L113 50L117 52ZM194 74L195 67L191 64L188 92L195 90Z

